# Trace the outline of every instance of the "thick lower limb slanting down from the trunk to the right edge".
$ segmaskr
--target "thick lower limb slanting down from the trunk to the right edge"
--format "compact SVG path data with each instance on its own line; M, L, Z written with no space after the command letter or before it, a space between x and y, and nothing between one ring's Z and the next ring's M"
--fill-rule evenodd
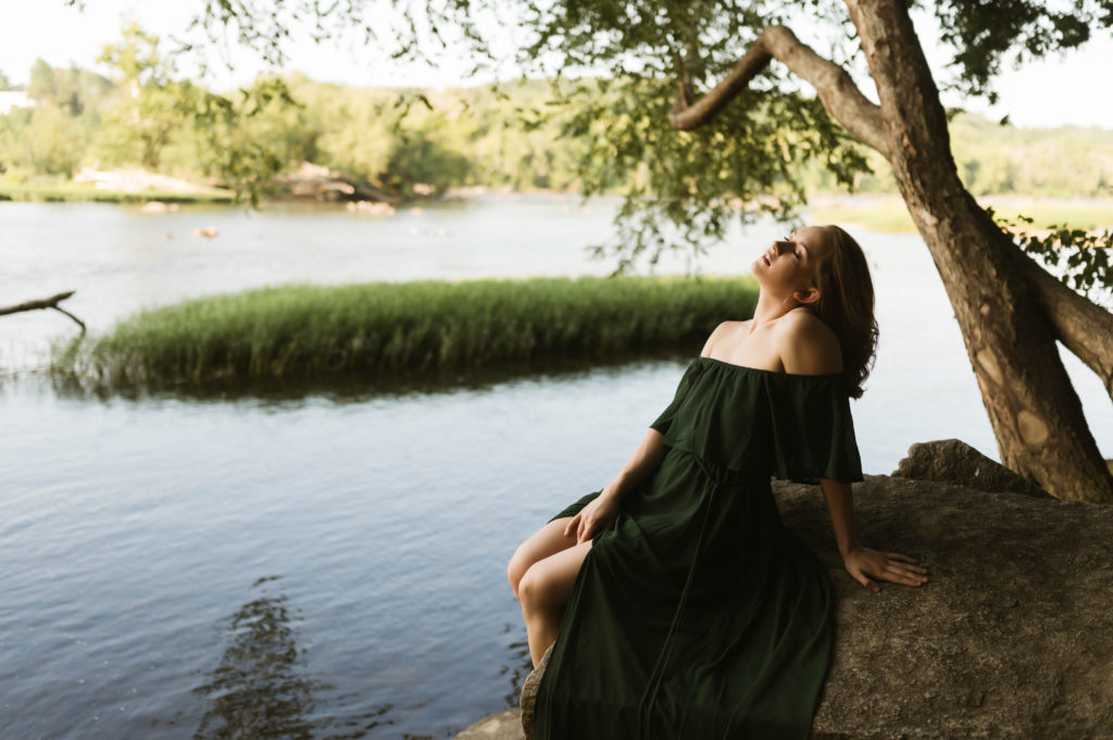
M1113 314L1063 285L1027 255L1018 253L1018 257L1055 338L1097 373L1113 398Z

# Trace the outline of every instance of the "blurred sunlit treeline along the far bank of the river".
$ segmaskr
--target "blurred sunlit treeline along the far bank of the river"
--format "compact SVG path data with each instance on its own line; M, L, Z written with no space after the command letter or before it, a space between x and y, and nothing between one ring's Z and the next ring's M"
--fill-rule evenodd
M141 167L244 187L311 161L403 197L454 186L577 189L584 145L552 114L545 81L418 91L295 73L223 96L177 78L158 39L135 26L100 61L106 75L36 62L24 90L33 105L0 115L0 182ZM0 86L9 87L2 75ZM951 134L974 195L1111 195L1111 130L1018 129L959 114ZM859 176L857 190L894 191L887 165L870 161L877 175ZM799 176L812 193L840 189L818 165Z

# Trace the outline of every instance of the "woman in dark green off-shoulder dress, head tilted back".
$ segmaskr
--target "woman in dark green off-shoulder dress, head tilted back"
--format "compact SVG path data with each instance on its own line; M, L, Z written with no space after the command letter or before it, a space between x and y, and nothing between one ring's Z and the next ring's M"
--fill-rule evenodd
M807 738L833 644L830 579L779 520L771 475L818 478L846 570L918 586L927 571L864 547L848 396L877 344L860 247L837 226L751 265L754 318L726 322L602 491L514 553L535 670L535 740Z

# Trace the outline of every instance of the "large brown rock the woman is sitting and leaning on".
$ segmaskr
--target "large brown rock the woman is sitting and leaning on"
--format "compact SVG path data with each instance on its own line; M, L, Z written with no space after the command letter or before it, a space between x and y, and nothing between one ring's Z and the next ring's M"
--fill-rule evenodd
M814 738L1113 739L1113 506L867 476L863 541L930 571L874 594L843 569L819 489L775 489L838 596ZM515 714L460 737L521 740Z

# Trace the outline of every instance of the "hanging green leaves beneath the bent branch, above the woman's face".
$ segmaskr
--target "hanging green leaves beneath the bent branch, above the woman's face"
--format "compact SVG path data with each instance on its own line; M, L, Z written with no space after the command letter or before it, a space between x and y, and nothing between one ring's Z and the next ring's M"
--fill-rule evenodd
M618 269L639 258L721 240L735 218L785 220L805 203L800 167L821 159L844 182L865 161L818 100L776 90L746 90L695 131L669 126L674 88L638 76L569 86L556 102L563 136L587 147L577 180L584 195L624 196L613 244L597 254ZM556 88L561 92L560 88Z

